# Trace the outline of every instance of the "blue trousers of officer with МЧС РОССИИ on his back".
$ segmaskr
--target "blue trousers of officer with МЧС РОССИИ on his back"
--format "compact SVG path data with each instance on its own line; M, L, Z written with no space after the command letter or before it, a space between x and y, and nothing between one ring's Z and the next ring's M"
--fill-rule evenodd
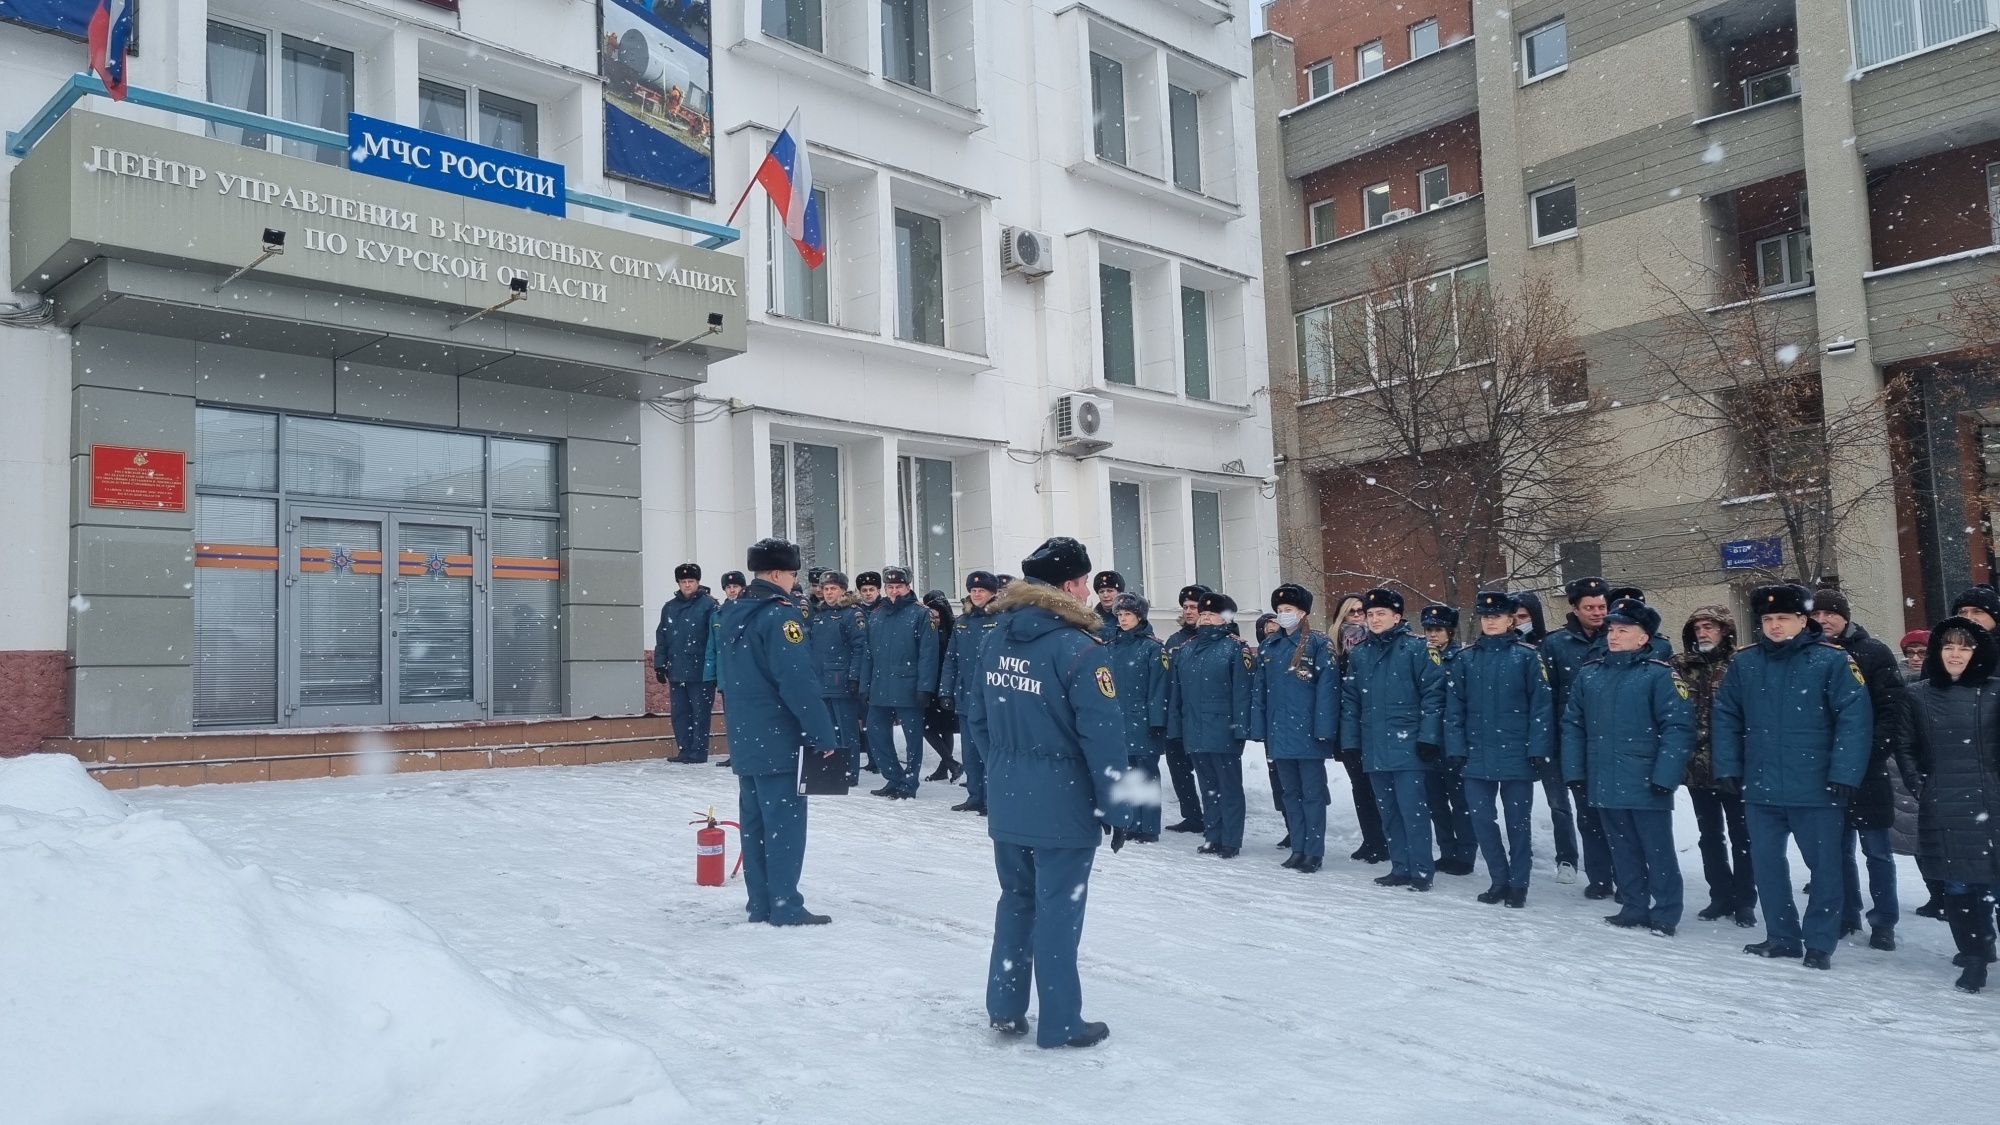
M1028 981L1042 1001L1036 1043L1062 1047L1084 1029L1084 987L1076 943L1084 937L1094 847L1026 847L994 841L1000 905L986 973L986 1015L1028 1015Z

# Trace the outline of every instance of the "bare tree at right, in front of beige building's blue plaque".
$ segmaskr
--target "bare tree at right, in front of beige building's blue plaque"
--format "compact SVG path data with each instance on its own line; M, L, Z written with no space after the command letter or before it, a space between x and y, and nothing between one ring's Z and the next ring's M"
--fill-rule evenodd
M1722 270L1696 276L1706 284L1690 294L1648 270L1664 318L1640 350L1644 376L1670 416L1654 464L1714 482L1718 514L1690 524L1710 546L1778 536L1782 562L1744 571L1814 585L1838 573L1842 550L1862 542L1846 530L1894 488L1874 472L1874 456L1890 440L1900 382L1828 410L1810 302L1758 292ZM1704 304L1694 296L1700 292L1722 300Z

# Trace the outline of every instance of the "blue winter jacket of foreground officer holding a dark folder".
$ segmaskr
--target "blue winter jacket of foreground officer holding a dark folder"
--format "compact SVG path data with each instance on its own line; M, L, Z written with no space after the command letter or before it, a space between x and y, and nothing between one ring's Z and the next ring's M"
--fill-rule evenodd
M806 619L778 587L756 579L722 607L716 665L738 777L794 773L800 745L838 745L812 675Z

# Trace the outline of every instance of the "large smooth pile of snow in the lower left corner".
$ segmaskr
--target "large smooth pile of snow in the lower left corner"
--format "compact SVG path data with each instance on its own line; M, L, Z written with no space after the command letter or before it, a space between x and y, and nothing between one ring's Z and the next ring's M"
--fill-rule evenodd
M504 991L402 907L230 863L76 759L0 761L10 1123L692 1117L660 1059Z

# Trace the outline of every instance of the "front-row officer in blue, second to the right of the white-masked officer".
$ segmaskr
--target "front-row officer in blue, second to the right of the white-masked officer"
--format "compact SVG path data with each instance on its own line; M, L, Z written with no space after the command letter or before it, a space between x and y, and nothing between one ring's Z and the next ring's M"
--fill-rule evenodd
M1556 757L1548 671L1514 631L1520 607L1506 591L1480 591L1480 637L1458 651L1444 697L1444 761L1464 777L1472 833L1492 885L1482 903L1528 905L1534 871L1534 783ZM1506 845L1494 807L1506 811Z

